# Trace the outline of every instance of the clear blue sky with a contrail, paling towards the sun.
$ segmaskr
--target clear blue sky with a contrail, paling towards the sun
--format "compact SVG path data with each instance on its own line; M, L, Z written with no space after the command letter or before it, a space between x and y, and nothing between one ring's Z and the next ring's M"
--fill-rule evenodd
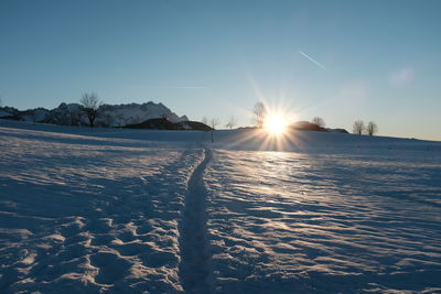
M54 108L95 91L240 126L265 97L441 140L440 15L441 1L1 0L0 96Z

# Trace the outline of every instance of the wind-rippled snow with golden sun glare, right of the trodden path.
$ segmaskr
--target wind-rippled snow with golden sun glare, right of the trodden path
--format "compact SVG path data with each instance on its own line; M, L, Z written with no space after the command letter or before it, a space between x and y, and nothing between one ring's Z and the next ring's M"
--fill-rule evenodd
M441 161L217 150L215 292L441 291Z

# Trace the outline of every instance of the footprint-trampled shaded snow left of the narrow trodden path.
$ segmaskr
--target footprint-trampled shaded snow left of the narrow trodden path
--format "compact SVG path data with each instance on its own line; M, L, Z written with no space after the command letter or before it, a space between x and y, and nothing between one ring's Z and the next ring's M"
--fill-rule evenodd
M201 150L127 144L0 129L1 292L182 291L178 226Z

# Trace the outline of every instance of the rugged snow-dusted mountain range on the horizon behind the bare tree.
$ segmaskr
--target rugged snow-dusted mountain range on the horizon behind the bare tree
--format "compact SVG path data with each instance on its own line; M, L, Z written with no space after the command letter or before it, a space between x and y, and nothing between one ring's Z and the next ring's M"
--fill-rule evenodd
M78 104L61 104L57 108L47 110L44 108L20 111L12 107L0 108L0 118L11 118L22 121L44 122L60 126L87 126L87 117ZM140 123L142 121L166 118L171 122L187 121L186 116L179 117L163 104L128 104L103 105L98 110L95 122L98 127L123 127Z

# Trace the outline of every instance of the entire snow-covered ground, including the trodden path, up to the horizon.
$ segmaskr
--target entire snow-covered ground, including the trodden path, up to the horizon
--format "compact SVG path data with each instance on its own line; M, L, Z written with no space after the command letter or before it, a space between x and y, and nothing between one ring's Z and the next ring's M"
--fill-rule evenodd
M262 135L0 120L0 293L441 292L440 142Z

